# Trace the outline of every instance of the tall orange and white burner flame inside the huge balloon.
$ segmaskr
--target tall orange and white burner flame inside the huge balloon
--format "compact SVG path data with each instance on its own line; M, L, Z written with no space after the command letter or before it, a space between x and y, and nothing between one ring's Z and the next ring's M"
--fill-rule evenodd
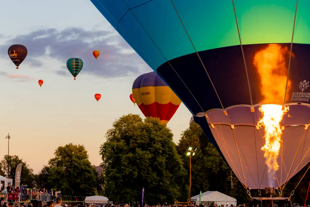
M254 56L253 64L261 80L261 103L278 102L284 99L286 81L287 81L287 57L290 51L287 47L281 47L279 44L269 44L268 47L258 51ZM292 56L294 56L292 54ZM291 88L291 81L287 83L287 94ZM288 98L288 95L286 96ZM277 158L281 148L281 120L283 115L289 110L285 107L282 110L281 105L266 104L259 107L262 118L257 125L264 126L265 144L261 148L264 151L266 164L268 166L269 187L274 187L276 179L275 172L279 169Z

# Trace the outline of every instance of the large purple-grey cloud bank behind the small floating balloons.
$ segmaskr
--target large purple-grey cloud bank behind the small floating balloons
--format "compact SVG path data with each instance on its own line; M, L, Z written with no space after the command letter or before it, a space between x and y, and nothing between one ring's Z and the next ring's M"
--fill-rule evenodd
M76 27L61 31L53 28L39 29L11 38L5 45L0 45L0 56L7 56L7 48L16 43L27 47L28 55L24 62L30 62L33 67L42 67L47 58L61 61L64 67L55 68L55 73L59 75L67 74L66 62L71 57L83 60L84 66L80 74L113 78L151 71L116 32L86 31ZM94 50L100 51L97 60L92 54Z

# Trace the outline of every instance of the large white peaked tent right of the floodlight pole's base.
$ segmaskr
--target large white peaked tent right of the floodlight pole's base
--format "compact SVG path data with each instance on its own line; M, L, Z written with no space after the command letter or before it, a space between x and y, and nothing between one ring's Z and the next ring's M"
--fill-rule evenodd
M199 205L199 195L191 197L192 202L196 202ZM224 193L220 193L219 191L206 191L201 194L201 204L211 205L211 203L217 205L237 205L237 200L230 196L225 195Z

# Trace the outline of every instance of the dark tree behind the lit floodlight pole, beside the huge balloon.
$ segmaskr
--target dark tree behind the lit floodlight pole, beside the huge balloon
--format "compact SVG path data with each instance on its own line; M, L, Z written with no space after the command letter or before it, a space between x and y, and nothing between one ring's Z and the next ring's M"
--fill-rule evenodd
M201 127L190 124L182 134L177 145L177 151L182 156L184 168L188 170L186 182L189 182L189 156L186 155L188 147L197 148L192 157L192 188L191 195L198 195L200 191L220 191L240 201L249 200L246 190L237 177L224 162L219 152L208 140ZM234 187L231 189L231 182Z

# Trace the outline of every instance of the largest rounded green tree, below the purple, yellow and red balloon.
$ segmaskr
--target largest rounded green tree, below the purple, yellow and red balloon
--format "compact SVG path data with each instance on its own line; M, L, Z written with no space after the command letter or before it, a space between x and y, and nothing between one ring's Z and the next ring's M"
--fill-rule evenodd
M172 140L173 134L159 119L124 115L113 123L101 145L104 193L125 203L174 202L181 197L186 172Z

